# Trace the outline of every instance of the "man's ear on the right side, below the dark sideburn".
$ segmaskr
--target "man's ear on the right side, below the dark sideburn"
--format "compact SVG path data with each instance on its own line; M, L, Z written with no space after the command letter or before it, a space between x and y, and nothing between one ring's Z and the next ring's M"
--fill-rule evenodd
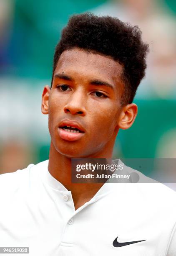
M123 130L130 128L136 118L137 113L138 107L135 103L131 103L123 107L118 119L118 127Z

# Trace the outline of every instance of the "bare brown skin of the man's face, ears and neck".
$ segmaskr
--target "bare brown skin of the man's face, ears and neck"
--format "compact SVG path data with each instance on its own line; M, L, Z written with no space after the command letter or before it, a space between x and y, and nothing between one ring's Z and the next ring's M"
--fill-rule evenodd
M48 171L71 191L75 210L103 184L71 183L71 158L111 159L119 129L130 128L136 118L136 104L120 103L122 72L123 67L111 57L73 48L61 54L51 89L44 87L41 110L48 114L51 136ZM84 136L77 141L60 138L58 125L65 118L77 120L85 129Z

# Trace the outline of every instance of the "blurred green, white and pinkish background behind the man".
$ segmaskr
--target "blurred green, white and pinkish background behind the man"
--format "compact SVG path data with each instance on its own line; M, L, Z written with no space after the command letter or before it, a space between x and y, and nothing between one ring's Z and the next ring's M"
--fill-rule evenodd
M113 157L176 158L176 1L0 0L0 173L48 159L41 94L62 28L85 11L138 25L151 49L134 100L138 116L119 132Z

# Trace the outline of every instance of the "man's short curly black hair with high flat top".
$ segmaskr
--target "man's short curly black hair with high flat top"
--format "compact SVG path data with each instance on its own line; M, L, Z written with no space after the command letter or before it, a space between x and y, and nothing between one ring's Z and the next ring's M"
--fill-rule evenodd
M148 52L148 44L142 41L138 26L133 27L110 16L99 17L92 13L73 15L63 28L55 48L53 73L62 52L73 47L110 56L118 61L123 67L121 104L133 102L138 85L145 76Z

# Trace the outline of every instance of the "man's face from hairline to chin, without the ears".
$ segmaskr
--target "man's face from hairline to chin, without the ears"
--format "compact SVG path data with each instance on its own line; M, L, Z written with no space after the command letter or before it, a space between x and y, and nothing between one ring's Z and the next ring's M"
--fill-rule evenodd
M93 157L113 148L123 92L121 73L122 66L107 56L76 48L61 54L48 101L50 136L60 154Z

